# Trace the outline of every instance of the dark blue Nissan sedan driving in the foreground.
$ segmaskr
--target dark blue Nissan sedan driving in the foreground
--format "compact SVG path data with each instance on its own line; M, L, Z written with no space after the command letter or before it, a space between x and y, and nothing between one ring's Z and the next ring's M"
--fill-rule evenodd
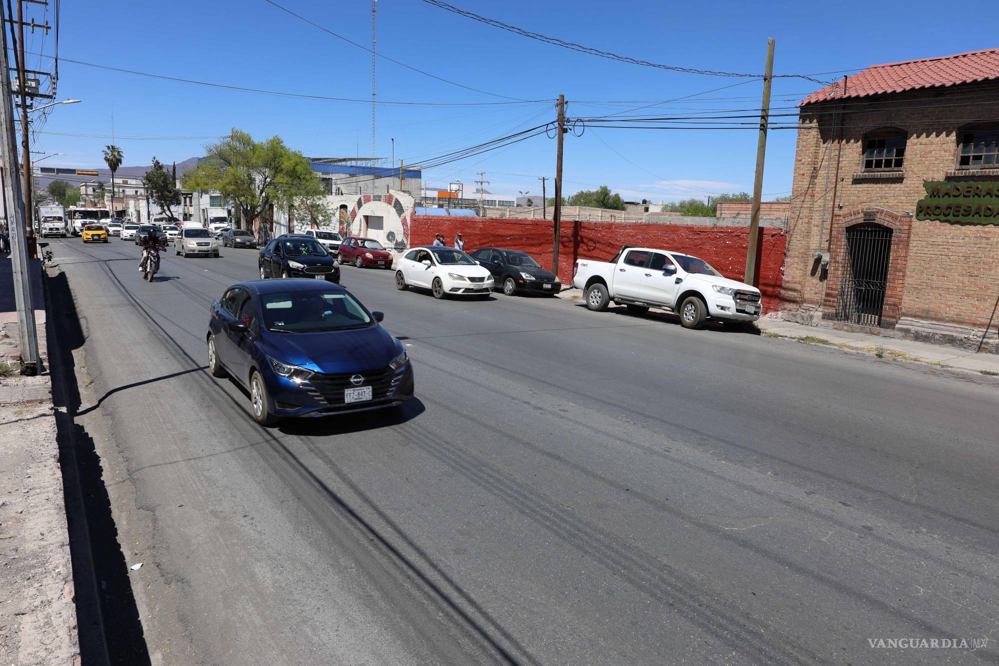
M209 370L246 387L263 425L401 405L413 367L382 318L326 280L241 282L212 304Z

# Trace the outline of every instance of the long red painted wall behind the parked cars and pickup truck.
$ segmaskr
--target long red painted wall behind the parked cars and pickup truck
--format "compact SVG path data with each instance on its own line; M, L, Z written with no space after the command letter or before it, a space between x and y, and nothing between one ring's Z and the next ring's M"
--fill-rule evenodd
M439 217L414 215L410 231L412 246L431 245L434 234L442 233L448 245L459 231L469 252L481 247L522 250L545 267L551 266L552 228L550 220L520 220L481 217ZM709 227L683 224L642 224L562 221L558 244L558 277L568 285L576 259L606 261L621 245L659 247L700 257L718 272L742 281L745 272L747 227ZM765 312L777 309L783 277L784 241L782 229L759 230L759 290Z

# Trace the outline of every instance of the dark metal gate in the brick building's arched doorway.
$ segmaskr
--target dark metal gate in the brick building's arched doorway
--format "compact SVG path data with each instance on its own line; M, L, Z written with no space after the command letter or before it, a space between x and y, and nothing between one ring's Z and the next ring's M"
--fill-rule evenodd
M878 224L846 230L846 251L840 258L839 300L836 320L860 326L880 326L888 264L891 260L891 229Z

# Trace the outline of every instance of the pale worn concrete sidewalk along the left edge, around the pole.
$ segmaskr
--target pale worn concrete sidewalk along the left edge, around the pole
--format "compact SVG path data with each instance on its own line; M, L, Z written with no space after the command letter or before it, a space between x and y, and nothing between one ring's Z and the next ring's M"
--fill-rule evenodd
M11 261L0 254L0 663L79 662L73 567L40 262L32 262L42 374L18 371Z

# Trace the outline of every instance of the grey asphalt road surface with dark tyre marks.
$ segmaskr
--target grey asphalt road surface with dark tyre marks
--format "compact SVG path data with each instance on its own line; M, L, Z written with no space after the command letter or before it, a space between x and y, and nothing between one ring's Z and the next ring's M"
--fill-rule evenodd
M268 430L205 371L255 251L149 284L131 243L49 247L154 661L999 658L990 378L344 267L418 399Z

